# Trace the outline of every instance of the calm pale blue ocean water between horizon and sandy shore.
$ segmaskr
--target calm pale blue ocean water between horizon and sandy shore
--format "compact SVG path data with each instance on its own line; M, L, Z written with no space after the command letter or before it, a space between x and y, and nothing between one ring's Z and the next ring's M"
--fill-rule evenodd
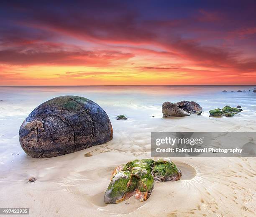
M199 103L203 116L209 116L209 110L225 105L244 106L244 111L234 117L250 116L256 115L253 89L256 86L1 86L0 119L10 116L25 118L42 102L61 95L93 100L107 112L110 120L121 114L130 118L161 118L163 102L182 100Z

